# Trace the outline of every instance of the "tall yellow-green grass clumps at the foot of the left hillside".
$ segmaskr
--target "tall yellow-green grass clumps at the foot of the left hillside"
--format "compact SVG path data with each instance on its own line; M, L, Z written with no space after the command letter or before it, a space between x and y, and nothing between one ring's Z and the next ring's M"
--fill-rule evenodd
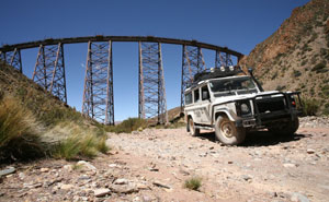
M98 127L81 127L76 122L60 122L47 131L16 99L0 93L1 163L45 156L91 158L110 150L102 131Z

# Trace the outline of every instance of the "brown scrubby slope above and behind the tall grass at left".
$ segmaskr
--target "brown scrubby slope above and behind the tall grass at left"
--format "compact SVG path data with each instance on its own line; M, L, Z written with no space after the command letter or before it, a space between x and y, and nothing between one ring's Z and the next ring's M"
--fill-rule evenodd
M60 121L97 124L80 112L60 102L25 75L0 62L0 92L16 98L26 106L45 127Z

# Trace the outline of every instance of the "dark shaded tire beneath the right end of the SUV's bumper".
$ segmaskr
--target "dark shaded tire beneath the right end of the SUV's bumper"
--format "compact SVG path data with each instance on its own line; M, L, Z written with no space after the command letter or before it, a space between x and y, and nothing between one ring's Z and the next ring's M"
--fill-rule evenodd
M269 131L275 135L293 136L299 128L299 120L296 117L294 120L283 122L280 127L269 127Z

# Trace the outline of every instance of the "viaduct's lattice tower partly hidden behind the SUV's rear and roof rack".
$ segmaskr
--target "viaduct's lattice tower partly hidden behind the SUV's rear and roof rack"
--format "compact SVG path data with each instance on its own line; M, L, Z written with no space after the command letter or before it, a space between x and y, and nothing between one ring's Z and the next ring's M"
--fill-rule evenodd
M194 75L206 69L201 47L183 46L181 110L184 106L184 91L191 86Z

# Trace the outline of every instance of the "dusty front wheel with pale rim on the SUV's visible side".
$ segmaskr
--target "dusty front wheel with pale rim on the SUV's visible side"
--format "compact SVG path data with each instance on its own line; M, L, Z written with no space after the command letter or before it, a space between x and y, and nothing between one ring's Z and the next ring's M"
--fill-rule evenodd
M225 145L237 145L243 142L246 130L237 128L227 117L219 116L215 124L216 138Z

